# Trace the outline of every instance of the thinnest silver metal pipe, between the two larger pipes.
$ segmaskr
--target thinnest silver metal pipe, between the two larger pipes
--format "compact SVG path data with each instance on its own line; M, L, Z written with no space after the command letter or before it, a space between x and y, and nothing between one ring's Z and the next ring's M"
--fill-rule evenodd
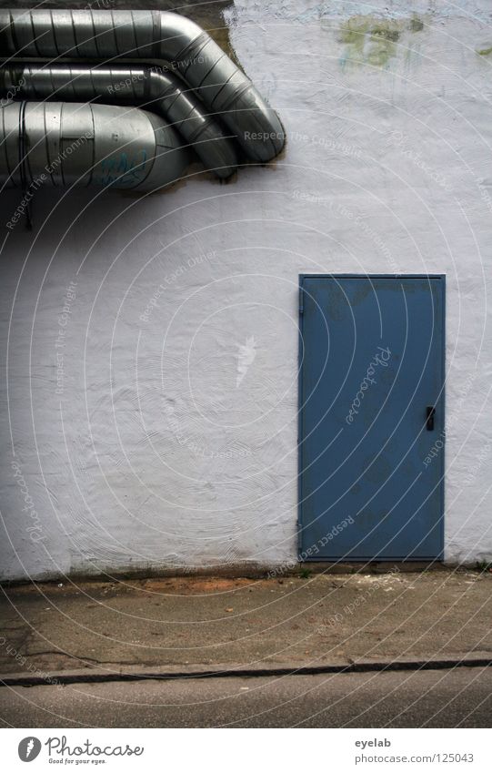
M233 142L171 73L140 65L8 65L0 69L0 96L6 94L20 99L142 105L165 117L217 177L230 177L237 166Z

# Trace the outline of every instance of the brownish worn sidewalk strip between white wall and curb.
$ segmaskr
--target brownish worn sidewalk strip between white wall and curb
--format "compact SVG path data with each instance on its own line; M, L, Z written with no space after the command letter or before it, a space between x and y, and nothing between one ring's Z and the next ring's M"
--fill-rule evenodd
M488 572L74 581L1 596L9 682L492 659Z

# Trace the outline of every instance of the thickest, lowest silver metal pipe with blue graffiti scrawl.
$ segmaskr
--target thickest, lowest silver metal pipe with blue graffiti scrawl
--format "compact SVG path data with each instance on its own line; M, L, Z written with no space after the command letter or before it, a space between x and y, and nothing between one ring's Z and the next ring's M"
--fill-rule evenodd
M176 131L138 107L13 102L0 120L7 187L154 190L181 178L190 161Z

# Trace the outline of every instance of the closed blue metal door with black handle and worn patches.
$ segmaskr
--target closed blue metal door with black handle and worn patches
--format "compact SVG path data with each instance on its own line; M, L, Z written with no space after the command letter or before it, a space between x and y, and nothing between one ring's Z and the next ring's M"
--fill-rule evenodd
M300 560L442 557L445 279L300 279Z

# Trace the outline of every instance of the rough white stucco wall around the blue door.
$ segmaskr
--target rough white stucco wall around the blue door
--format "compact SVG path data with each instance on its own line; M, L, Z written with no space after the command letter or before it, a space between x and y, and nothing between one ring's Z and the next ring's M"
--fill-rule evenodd
M48 192L34 233L5 229L3 577L294 559L309 271L447 274L446 558L492 557L492 28L462 5L238 0L281 159L146 198Z

